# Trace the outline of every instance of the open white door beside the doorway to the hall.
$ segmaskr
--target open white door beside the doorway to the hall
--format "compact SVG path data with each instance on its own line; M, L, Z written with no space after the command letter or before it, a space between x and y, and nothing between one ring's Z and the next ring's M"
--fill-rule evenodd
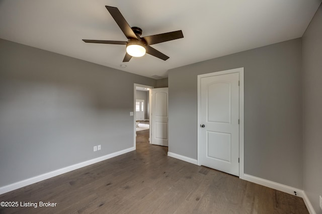
M152 89L151 143L168 146L168 88Z

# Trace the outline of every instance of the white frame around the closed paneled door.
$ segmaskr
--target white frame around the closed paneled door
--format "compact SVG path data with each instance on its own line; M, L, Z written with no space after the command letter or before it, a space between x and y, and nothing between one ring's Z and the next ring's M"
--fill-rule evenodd
M217 75L239 73L239 178L244 179L244 68L235 68L225 71L212 72L198 75L198 115L197 115L197 164L201 165L201 142L200 142L200 97L201 78Z

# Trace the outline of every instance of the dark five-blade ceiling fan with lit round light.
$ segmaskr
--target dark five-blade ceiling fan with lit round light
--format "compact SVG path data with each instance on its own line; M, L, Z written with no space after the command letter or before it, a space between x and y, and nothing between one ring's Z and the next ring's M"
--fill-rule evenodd
M147 37L140 37L142 35L142 29L138 27L130 27L126 22L121 12L110 6L105 6L106 9L110 12L111 16L118 24L120 29L123 31L124 35L128 39L125 41L108 41L108 40L83 40L86 43L100 43L100 44L114 44L114 45L126 45L126 54L123 59L123 62L129 62L132 57L141 57L145 53L150 54L154 57L157 57L162 60L167 60L169 57L154 48L150 45L157 43L163 43L171 40L183 38L182 31L174 31L164 34L156 34Z

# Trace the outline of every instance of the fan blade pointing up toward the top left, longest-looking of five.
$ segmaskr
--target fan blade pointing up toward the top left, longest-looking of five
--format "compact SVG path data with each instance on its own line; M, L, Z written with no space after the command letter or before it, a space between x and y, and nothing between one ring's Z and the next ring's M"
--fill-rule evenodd
M127 24L119 9L110 6L105 6L105 8L110 12L111 16L123 31L127 39L138 39L129 24Z

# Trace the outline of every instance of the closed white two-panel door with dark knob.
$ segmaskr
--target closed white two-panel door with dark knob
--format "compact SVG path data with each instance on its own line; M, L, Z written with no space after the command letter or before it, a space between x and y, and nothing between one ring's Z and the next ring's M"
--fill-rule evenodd
M201 165L239 175L239 73L200 79Z

